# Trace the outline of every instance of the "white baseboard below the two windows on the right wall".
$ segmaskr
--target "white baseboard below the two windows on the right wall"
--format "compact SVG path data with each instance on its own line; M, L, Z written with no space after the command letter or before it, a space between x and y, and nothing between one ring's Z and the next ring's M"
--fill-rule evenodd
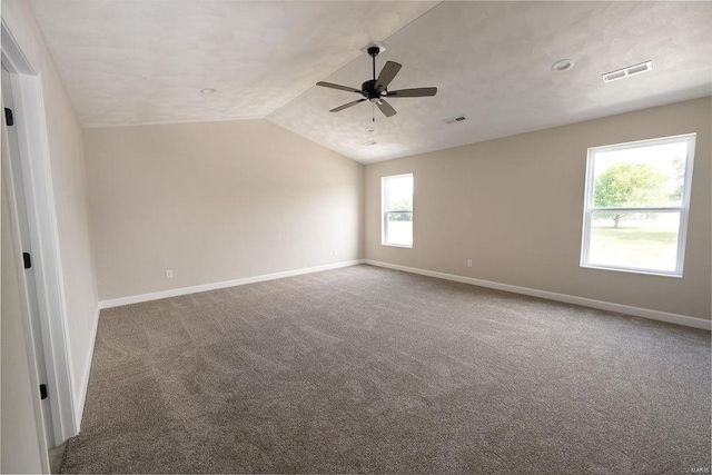
M382 263L378 260L364 259L364 264L372 266L385 267L394 270L403 270L411 274L419 274L422 276L436 277L445 280L454 280L463 284L476 285L497 290L511 291L514 294L528 295L532 297L545 298L548 300L564 301L566 304L581 305L583 307L599 308L601 310L617 311L620 314L633 315L635 317L650 318L652 320L666 321L670 324L683 325L692 328L701 328L710 330L712 321L704 318L689 317L686 315L670 314L666 311L651 310L649 308L631 307L630 305L613 304L611 301L594 300L592 298L576 297L566 294L556 294L554 291L537 290L528 287L520 287L508 284L500 284L490 280L481 280L472 277L463 277L454 274L436 273L434 270L418 269L415 267L398 266L396 264Z

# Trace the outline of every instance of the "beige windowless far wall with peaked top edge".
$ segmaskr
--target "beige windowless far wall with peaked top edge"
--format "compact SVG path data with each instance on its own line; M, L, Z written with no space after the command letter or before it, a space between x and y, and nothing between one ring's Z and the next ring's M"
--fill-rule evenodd
M266 120L91 128L85 149L101 300L362 257L363 166Z

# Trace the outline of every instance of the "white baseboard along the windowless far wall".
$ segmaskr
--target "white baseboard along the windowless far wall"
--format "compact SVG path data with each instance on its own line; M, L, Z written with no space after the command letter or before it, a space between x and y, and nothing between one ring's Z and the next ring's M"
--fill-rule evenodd
M134 295L130 297L113 298L111 300L99 301L99 309L120 307L122 305L139 304L141 301L159 300L161 298L178 297L180 295L197 294L200 291L216 290L227 287L237 287L246 284L261 283L265 280L281 279L284 277L299 276L303 274L319 273L322 270L338 269L342 267L350 267L364 264L363 259L346 260L343 263L327 264L324 266L306 267L303 269L285 270L283 273L264 274L261 276L245 277L235 280L224 280L220 283L204 284L192 287L175 288L170 290L156 291L151 294Z

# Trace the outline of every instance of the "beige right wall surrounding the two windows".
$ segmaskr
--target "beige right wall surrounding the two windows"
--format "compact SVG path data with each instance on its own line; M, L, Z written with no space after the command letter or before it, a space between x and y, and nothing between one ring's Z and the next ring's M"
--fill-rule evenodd
M711 115L704 98L369 165L366 258L709 319ZM689 132L684 277L581 268L586 149ZM380 245L380 177L404 172L415 180L413 249Z

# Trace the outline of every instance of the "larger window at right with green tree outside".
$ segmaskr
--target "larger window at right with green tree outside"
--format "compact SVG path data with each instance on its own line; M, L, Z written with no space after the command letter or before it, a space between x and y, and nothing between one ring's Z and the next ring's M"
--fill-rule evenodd
M583 267L682 277L694 140L589 149Z

